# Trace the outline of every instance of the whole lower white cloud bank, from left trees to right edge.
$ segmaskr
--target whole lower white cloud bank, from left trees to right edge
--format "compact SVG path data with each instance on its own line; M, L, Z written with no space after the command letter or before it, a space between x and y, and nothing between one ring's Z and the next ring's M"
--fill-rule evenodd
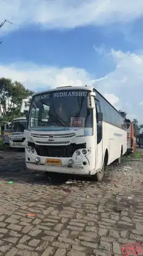
M45 90L62 85L94 85L116 109L137 118L142 124L143 55L111 51L115 69L96 79L84 69L48 67L28 63L0 65L0 77L19 80L32 90Z

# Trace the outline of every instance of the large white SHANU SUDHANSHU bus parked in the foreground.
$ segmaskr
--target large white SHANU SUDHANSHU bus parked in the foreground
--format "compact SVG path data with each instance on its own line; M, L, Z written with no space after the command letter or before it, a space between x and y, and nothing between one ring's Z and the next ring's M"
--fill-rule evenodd
M34 121L35 120L35 121ZM93 87L35 93L25 130L28 169L82 174L101 181L125 154L125 119Z

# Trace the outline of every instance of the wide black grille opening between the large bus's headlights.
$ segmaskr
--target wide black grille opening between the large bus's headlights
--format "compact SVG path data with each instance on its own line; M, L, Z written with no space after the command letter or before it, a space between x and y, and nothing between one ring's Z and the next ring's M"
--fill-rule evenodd
M75 144L71 143L67 146L46 146L46 145L35 145L35 143L28 142L28 146L34 147L39 156L49 157L71 157L73 153L80 149L86 148L86 143Z

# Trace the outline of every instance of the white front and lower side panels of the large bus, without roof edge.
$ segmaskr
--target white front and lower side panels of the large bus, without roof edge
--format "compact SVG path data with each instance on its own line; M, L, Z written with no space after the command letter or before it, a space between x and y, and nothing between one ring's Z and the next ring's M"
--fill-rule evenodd
M96 129L95 129L96 130ZM107 132L108 130L108 132ZM73 132L73 130L71 130L71 132ZM39 132L32 132L32 134L38 134ZM40 133L44 135L44 132ZM49 135L51 133L47 133L45 132L45 137L44 137L44 142L46 142L46 140L48 141L49 139ZM56 135L56 133L54 134L54 132L52 133L53 135ZM60 132L60 134L62 135L62 132ZM65 132L64 132L65 134ZM68 135L69 133L67 133ZM76 134L76 131L75 131ZM122 134L123 137L118 137L118 135L114 135L114 134ZM84 155L80 155L80 156L76 156L75 153L73 153L73 155L71 156L71 158L74 161L74 164L72 166L72 168L68 167L68 161L71 158L54 158L54 157L46 157L46 156L39 156L37 155L36 151L34 153L32 152L28 152L27 150L27 140L28 141L32 141L35 142L35 138L33 138L33 136L31 136L31 132L25 131L25 135L26 135L26 140L25 140L25 146L26 146L26 150L25 150L25 160L26 160L26 165L28 169L35 169L38 171L49 171L49 172L56 172L56 173L69 173L69 174L85 174L85 175L93 175L95 174L97 171L99 171L100 169L102 169L102 164L103 164L103 160L104 160L104 155L105 155L105 150L108 150L108 163L110 164L113 161L115 161L117 158L120 157L120 153L121 153L121 145L123 145L123 155L126 153L126 131L121 130L119 128L113 127L110 124L107 124L105 122L103 122L103 140L99 143L99 145L97 145L96 143L96 135L92 135L89 137L76 137L73 136L73 138L71 138L70 143L85 143L86 142L86 149L89 149L89 153L88 155L84 156ZM32 140L31 140L32 138ZM59 145L60 144L60 138L57 139L57 141L59 141ZM63 137L62 137L63 140ZM69 139L64 139L64 141L69 140ZM36 138L36 142L40 141L41 142L41 138ZM57 145L57 144L56 144ZM97 147L96 147L97 145ZM82 148L81 148L82 150ZM40 164L35 164L35 158L36 156L39 156L41 159L41 163ZM28 161L28 158L30 159L30 161ZM46 163L46 159L59 159L62 161L62 166L49 166ZM86 161L88 164L86 166L83 165L83 162Z

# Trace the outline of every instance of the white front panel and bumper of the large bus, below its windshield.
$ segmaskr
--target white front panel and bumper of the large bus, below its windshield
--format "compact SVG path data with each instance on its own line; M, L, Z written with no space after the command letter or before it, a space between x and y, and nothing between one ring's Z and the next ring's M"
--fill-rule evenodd
M68 138L68 135L70 134L74 134L72 137ZM39 132L33 132L32 131L32 134L39 134ZM84 155L80 155L80 156L76 156L75 153L73 153L73 155L70 157L70 158L53 158L53 157L46 157L46 156L39 156L41 158L41 163L38 164L38 165L35 165L35 158L37 155L36 151L35 153L29 153L28 150L27 150L27 140L31 140L32 138L32 141L36 141L36 143L38 143L38 141L44 141L46 142L46 140L48 141L49 139L49 135L51 135L51 133L48 133L47 132L43 132L43 133L40 133L42 135L45 135L43 139L41 139L41 137L39 138L34 138L33 136L30 135L30 133L28 131L25 131L25 135L26 135L26 140L25 140L25 143L26 143L26 150L25 150L25 158L26 158L26 164L27 164L27 168L29 169L37 169L39 171L54 171L54 172L57 172L57 173L73 173L73 174L89 174L89 171L92 173L93 172L93 164L92 164L92 159L94 158L94 145L92 145L91 147L91 143L92 143L92 140L93 140L93 136L89 136L88 139L87 137L82 137L82 139L80 137L77 137L77 135L79 136L80 134L83 134L83 129L82 130L78 130L78 131L75 131L75 130L70 130L68 132L63 132L63 131L60 131L60 132L53 132L52 134L53 135L57 135L58 138L56 138L54 141L55 142L59 142L59 145L62 145L60 142L64 141L68 141L68 145L70 145L70 143L87 143L87 149L89 148L89 153L87 156L84 156ZM67 136L67 138L62 134L66 134L65 136ZM59 136L60 135L60 136ZM49 145L49 144L48 144ZM52 145L52 144L51 144ZM58 145L58 144L56 144ZM82 148L81 148L82 150ZM30 161L28 161L28 158L30 158ZM45 164L46 162L46 159L47 158L50 158L50 159L59 159L62 161L62 166L48 166ZM73 159L74 160L74 164L73 164L73 167L72 168L68 168L68 161L70 159ZM83 161L89 161L89 165L87 166L84 166L82 163Z

